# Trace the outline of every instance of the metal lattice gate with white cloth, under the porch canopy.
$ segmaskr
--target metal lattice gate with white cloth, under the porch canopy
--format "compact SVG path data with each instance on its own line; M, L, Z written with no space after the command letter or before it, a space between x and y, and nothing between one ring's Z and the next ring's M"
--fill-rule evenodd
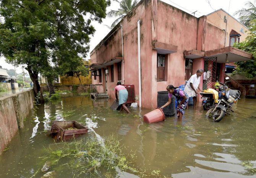
M203 81L203 89L206 90L207 88L214 88L217 72L217 57L204 59L204 72L208 73L209 78Z

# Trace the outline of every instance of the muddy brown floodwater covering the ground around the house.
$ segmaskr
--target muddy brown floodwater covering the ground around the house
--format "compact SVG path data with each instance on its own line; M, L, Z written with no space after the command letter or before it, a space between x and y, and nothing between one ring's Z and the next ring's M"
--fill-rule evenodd
M44 132L53 117L90 127L82 138L114 134L124 144L123 152L135 152L134 167L147 173L157 170L160 176L174 178L256 177L256 100L239 100L236 112L219 123L206 120L201 107L189 107L182 121L174 116L151 125L142 118L149 110L130 108L132 114L126 115L110 110L111 104L111 100L93 102L71 93L60 102L39 106L35 120L33 116L26 120L0 156L0 177L29 178L42 168L44 147L54 144ZM56 177L72 177L69 170L56 172ZM131 173L119 176L136 177Z

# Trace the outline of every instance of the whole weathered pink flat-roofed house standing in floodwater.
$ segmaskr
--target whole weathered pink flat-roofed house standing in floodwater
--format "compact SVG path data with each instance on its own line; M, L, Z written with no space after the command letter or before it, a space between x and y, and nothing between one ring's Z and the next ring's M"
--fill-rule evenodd
M237 29L241 24L234 22ZM180 86L204 69L211 72L207 81L201 78L201 88L206 89L216 80L224 81L225 63L252 58L227 45L228 34L207 16L196 18L160 0L141 0L92 50L92 84L111 98L118 80L134 84L138 104L156 108L157 91L167 85Z

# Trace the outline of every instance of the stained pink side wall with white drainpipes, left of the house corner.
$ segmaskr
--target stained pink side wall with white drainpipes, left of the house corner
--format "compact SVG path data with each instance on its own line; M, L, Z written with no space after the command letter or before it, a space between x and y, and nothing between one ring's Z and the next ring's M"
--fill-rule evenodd
M134 8L122 21L117 24L116 28L110 31L109 35L99 43L91 52L93 63L103 64L114 57L122 57L122 36L120 25L123 26L123 58L124 58L124 79L125 84L134 84L135 95L138 95L138 32L137 21L140 20L141 29L141 74L142 78L142 97L151 96L151 56L152 56L152 39L151 39L151 1L142 0L138 3L138 8ZM117 29L118 28L118 29ZM113 33L114 32L114 33ZM112 34L113 33L113 34ZM112 35L111 35L112 34ZM110 36L111 35L111 36ZM108 38L108 39L107 39ZM102 44L103 45L100 45ZM114 88L117 83L117 64L114 64L114 81L111 82L110 66L107 66L107 91L111 98L115 98ZM122 64L123 73L123 64ZM122 75L123 77L123 75ZM122 78L123 83L123 78ZM92 84L102 84L105 89L105 75L102 70L102 83L99 83L99 77ZM138 97L136 97L138 98ZM150 105L150 104L148 104ZM145 107L148 107L147 105Z

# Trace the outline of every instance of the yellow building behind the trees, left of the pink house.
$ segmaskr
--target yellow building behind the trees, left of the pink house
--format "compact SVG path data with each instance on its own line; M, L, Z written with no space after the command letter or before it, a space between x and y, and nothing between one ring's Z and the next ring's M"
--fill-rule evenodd
M88 68L88 75L86 77L80 76L81 83L79 81L78 77L73 76L73 73L69 73L68 76L57 76L55 77L55 80L53 81L53 86L57 89L65 89L65 90L71 90L71 86L73 85L90 85L92 84L92 78L91 78L91 71L89 71L89 65L91 65L91 60L83 61L84 66ZM47 81L45 78L41 78L42 80L42 86L47 86ZM45 91L45 87L44 91Z

